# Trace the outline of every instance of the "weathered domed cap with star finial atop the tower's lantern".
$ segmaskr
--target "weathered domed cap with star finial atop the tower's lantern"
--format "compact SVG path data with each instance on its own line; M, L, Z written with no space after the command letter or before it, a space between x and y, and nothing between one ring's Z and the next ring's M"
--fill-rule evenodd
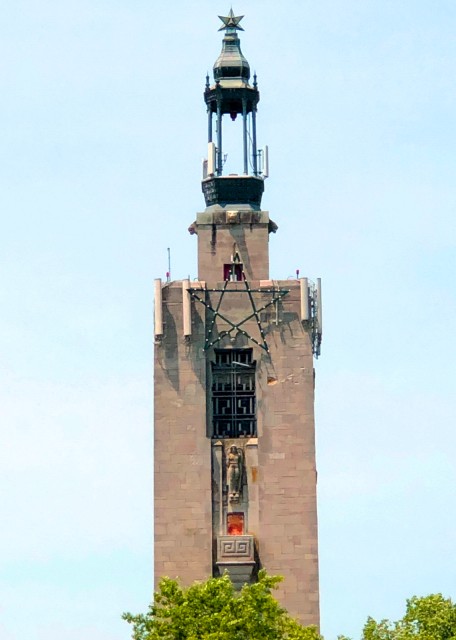
M241 41L237 34L237 30L243 31L239 26L243 17L236 17L232 9L228 16L219 16L223 22L223 27L219 31L225 30L226 33L223 38L222 51L214 64L215 80L241 80L246 83L249 81L250 66L242 54Z

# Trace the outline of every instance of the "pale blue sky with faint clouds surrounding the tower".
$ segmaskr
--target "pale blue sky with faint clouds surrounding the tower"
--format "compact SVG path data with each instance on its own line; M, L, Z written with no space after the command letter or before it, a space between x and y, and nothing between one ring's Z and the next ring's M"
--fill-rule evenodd
M244 0L271 273L321 276L322 630L456 596L454 0ZM152 590L152 293L196 274L196 0L0 23L0 637L120 640Z

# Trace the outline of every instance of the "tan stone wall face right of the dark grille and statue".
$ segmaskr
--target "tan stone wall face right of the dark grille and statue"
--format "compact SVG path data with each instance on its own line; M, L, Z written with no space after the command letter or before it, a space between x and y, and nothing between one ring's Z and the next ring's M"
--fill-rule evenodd
M319 624L314 369L300 321L299 284L284 298L280 323L269 325L270 363L259 372L259 552L284 576L279 600L304 624ZM269 382L268 382L269 378Z

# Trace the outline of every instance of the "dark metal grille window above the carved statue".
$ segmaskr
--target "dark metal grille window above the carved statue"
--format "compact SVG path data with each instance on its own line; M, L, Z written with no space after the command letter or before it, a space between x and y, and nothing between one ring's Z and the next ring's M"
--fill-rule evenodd
M252 349L216 349L212 363L212 437L256 435Z

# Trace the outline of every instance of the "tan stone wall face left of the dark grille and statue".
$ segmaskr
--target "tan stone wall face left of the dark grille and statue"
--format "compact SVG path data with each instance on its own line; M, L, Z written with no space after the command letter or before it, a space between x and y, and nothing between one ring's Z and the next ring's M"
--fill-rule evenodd
M182 330L182 283L163 287L164 337L155 345L155 581L212 575L211 450L206 437L202 310Z

